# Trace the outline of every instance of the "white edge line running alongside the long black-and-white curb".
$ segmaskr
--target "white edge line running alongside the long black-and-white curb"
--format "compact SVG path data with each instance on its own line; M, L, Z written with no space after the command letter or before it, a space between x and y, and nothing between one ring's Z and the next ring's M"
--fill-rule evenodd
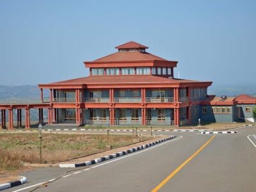
M111 160L111 161L108 161L108 162L106 162L106 163L102 163L102 164L98 164L98 165L92 166L92 167L90 167L90 168L86 168L86 169L84 169L84 171L88 171L88 170L91 170L92 168L97 168L98 166L102 166L102 165L104 165L104 164L109 164L109 163L112 163L112 162L115 162L115 161L119 161L119 160L121 160L121 159L130 157L130 156L134 156L134 155L136 155L136 154L140 154L140 153L146 152L147 150L151 150L152 148L156 148L156 147L159 147L159 146L164 145L164 144L166 144L166 143L170 143L170 142L172 142L172 141L179 140L180 138L182 138L182 136L180 136L179 138L172 139L172 140L170 140L170 141L165 141L164 143L160 143L160 144L158 144L158 145L156 145L156 146L154 146L154 147L146 148L146 149L144 149L144 150L141 150L141 151L138 151L138 152L134 152L134 153L132 153L132 154L130 154L130 155L126 155L126 156L124 156L124 157L120 157L120 158L118 158L118 159L113 159L113 160ZM76 173L80 173L80 172L76 172ZM73 173L73 174L75 174L75 173ZM71 175L71 174L70 174L70 175ZM70 175L68 175L68 176L70 176ZM68 177L68 176L65 175L65 176L63 176L63 177ZM63 177L62 177L62 178L63 178ZM35 185L33 185L33 186L28 186L28 187L26 187L26 188L21 188L21 189L18 189L18 190L16 190L16 191L13 191L13 192L23 191L23 190L25 190L25 189L33 188L33 187L35 187L35 186L39 186L39 185L44 184L44 183L45 183L45 182L40 182L40 183L35 184Z

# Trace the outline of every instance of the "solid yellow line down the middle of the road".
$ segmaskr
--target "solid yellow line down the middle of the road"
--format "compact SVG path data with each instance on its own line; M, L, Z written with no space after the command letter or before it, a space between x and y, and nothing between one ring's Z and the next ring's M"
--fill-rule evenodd
M192 156L190 156L186 161L184 161L184 163L180 164L180 166L178 166L170 175L168 175L168 177L166 177L158 186L156 186L156 188L152 189L151 192L156 192L159 189L161 189L164 184L166 184L166 182L168 182L168 180L172 179L172 177L178 173L187 163L189 163L189 161L191 161L195 156L197 156L215 137L215 135L213 135L206 143L204 143L204 145L202 147L200 147L198 150L196 150L195 154L193 154Z

